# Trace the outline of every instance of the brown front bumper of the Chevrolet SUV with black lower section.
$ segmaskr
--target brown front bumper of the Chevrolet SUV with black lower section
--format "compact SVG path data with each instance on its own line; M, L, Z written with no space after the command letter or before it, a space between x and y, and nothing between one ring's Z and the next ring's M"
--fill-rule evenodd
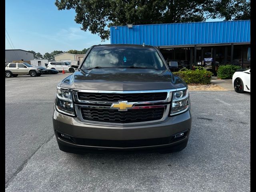
M60 149L63 150L65 146L70 150L72 148L75 153L83 150L132 151L176 146L185 148L191 129L191 113L188 110L157 123L106 126L81 122L77 118L60 114L54 108L53 127ZM183 137L174 139L176 134L182 132ZM63 138L61 134L71 139Z

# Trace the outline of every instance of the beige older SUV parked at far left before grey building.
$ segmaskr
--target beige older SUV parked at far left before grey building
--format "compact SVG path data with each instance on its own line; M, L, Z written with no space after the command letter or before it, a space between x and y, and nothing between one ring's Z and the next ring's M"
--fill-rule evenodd
M42 69L31 66L28 63L8 63L5 68L5 76L7 78L17 77L19 74L28 74L31 77L41 75Z

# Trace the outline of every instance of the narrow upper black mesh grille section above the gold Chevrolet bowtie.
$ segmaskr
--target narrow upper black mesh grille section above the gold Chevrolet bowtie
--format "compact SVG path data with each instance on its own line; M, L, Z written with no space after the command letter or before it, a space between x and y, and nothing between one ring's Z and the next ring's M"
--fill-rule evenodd
M78 99L85 101L100 101L100 102L147 102L166 100L167 92L152 92L152 93L89 93L78 92Z

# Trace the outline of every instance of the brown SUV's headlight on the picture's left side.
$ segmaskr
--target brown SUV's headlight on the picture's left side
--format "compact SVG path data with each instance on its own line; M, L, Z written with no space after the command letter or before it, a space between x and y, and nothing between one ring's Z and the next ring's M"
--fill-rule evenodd
M72 92L57 89L55 97L56 109L58 112L66 115L75 116Z

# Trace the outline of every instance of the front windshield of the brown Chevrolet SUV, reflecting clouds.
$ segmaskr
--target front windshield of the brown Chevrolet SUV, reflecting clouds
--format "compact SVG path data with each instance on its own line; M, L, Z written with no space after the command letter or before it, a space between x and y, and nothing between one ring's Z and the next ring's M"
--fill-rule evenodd
M81 69L92 68L146 68L166 70L155 48L94 47Z

